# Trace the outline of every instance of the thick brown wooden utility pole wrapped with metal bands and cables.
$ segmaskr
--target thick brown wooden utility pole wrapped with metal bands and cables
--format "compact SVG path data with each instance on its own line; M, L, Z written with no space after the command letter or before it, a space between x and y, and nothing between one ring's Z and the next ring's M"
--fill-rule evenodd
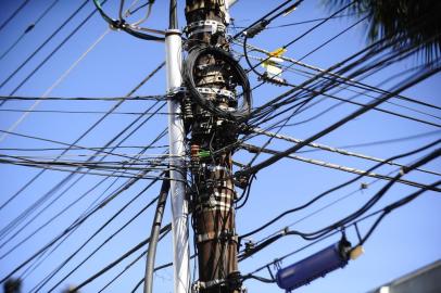
M199 280L193 292L242 291L238 270L232 152L240 122L251 107L243 69L229 53L225 1L186 1L184 120L190 133L191 209ZM238 105L237 88L243 103Z

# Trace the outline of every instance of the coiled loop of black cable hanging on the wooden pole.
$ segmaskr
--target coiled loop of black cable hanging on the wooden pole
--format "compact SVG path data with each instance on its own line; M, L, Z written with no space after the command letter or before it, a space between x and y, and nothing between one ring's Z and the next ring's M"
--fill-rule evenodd
M229 99L228 106L219 106L214 100L206 99L194 81L196 71L201 68L201 64L198 61L203 56L212 55L216 61L224 62L224 66L229 66L229 74L231 80L228 80L226 90L236 93L236 87L242 88L242 102L239 105L237 98ZM200 105L203 110L211 112L217 117L222 117L232 122L245 122L250 116L250 111L252 107L252 94L250 88L250 81L248 80L247 73L240 66L238 61L236 61L232 55L219 48L212 46L198 46L193 47L184 63L184 80L187 86L188 91L194 102ZM215 82L210 82L215 85ZM206 85L204 87L207 87ZM219 89L214 89L213 92L217 92Z

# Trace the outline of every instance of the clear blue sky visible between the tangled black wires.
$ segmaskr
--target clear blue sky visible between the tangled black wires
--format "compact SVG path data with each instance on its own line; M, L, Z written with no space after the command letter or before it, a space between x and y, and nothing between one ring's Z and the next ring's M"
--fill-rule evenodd
M0 3L0 22L7 20L9 15L20 5L22 1L3 0ZM52 31L59 27L64 20L72 14L83 1L59 1L59 3L48 13L48 15L37 24L37 26L28 33L15 49L0 60L0 80L4 80L40 43L48 38ZM148 20L146 26L164 29L167 26L167 7L168 1L156 1L151 18ZM185 24L184 5L185 1L179 2L179 25ZM276 7L281 1L250 1L240 0L232 9L231 16L235 18L236 26L247 26L254 20L259 18L267 11ZM0 53L2 53L11 43L26 29L26 27L35 22L35 20L47 9L52 0L30 0L29 3L0 31ZM110 0L105 10L116 16L118 1ZM72 20L34 59L28 62L4 87L0 89L1 95L8 95L38 64L93 10L91 1L86 8ZM323 5L322 1L306 0L293 13L285 17L277 18L272 25L281 25L294 22L302 22L324 17L330 12ZM138 16L141 16L138 14ZM326 25L308 34L295 44L288 49L287 56L299 59L305 53L313 50L318 44L335 36L342 29L356 22L356 18L346 17L338 18L328 22ZM289 26L285 28L267 29L250 43L255 44L266 50L275 50L288 41L306 31L315 23L303 25ZM84 27L68 40L50 60L43 65L27 82L16 91L15 95L40 97L65 73L72 64L78 60L88 48L106 31L108 25L96 14ZM234 30L231 30L234 31ZM327 68L330 65L345 59L352 53L363 49L366 46L366 24L362 23L328 46L322 48L317 52L307 56L303 62L320 68ZM241 50L240 47L234 47L235 50ZM255 54L251 52L250 54ZM139 81L142 80L150 72L152 72L164 60L164 44L159 42L149 42L136 39L121 31L109 33L91 50L81 62L72 69L72 72L50 92L50 97L124 97ZM369 76L365 81L369 85L379 85L389 77L402 73L412 66L418 64L417 59L407 59L403 62L393 64L387 69L381 71L373 76ZM244 63L242 63L245 66ZM260 68L262 71L262 68ZM302 76L295 73L285 73L284 77L293 84L299 84L304 80ZM252 85L257 82L255 75L250 74ZM399 80L399 79L398 79ZM441 76L438 74L424 82L406 90L403 94L427 103L440 106L440 85ZM389 89L394 86L394 82L388 82L382 87ZM151 80L149 80L136 94L163 94L165 90L165 71L162 69ZM287 90L282 87L266 85L256 90L254 95L254 104L260 105L275 97L279 92ZM349 98L354 95L353 92L342 91L340 97ZM367 103L370 99L357 97L355 101ZM425 112L426 114L403 109L393 104L385 104L383 109L418 117L420 119L430 120L439 124L440 113L432 109L423 107L414 104L408 104L400 100L391 100L392 102L411 106L413 110ZM9 101L2 105L3 110L25 110L29 107L34 101ZM56 111L98 111L106 112L116 102L93 102L93 101L43 101L36 110L56 110ZM303 119L315 116L322 111L335 105L337 101L324 99L324 101L303 114L297 116L292 122L301 122ZM127 101L123 103L117 112L142 112L151 106L151 101ZM156 106L158 107L158 106ZM155 107L155 109L156 109ZM155 110L154 109L154 110ZM324 129L326 126L338 120L339 118L355 111L356 106L344 104L336 107L332 111L320 115L318 118L299 126L287 127L281 130L281 133L305 139ZM166 107L161 112L164 113ZM430 114L432 116L429 116ZM22 113L1 112L0 129L5 130L15 123ZM88 127L98 120L103 114L60 114L60 113L32 113L23 123L14 130L18 133L35 136L39 138L52 139L61 142L75 141ZM434 116L434 117L433 117ZM84 146L101 146L122 131L129 125L136 115L115 114L103 120L93 131L87 135L79 145ZM437 118L438 117L438 118ZM142 119L141 119L142 120ZM139 123L137 124L139 125ZM155 115L152 119L140 127L123 145L146 145L155 138L166 127L166 115ZM133 129L133 128L131 128ZM436 131L439 128L416 122L406 120L400 117L390 116L385 113L369 112L355 120L344 125L330 135L322 138L318 142L331 146L341 146L350 144L358 144L371 141L388 140L408 136L420 135L429 131ZM440 138L441 132L415 139L403 141L400 143L389 143L376 146L354 148L352 151L387 158L395 154L404 153L416 148L419 148L430 141ZM253 143L262 143L263 138L253 140ZM163 138L158 144L167 144L167 137ZM290 146L290 143L274 141L269 148L285 150ZM0 141L0 149L4 148L59 148L60 145L8 136ZM118 153L135 154L139 149L121 149ZM304 149L307 150L307 149ZM156 154L163 152L163 149L149 150L148 154ZM54 155L60 154L60 151L45 152L18 152L18 151L0 151L8 155L38 155L43 156L39 160L50 160ZM89 154L88 152L68 152L67 154ZM400 161L402 164L408 164L420 157L424 153L416 156L410 156ZM349 167L367 169L374 165L365 160L348 157L329 152L311 152L299 154L308 158L323 160L329 163L344 165ZM260 160L265 158L262 155ZM85 160L85 156L65 156L64 160L76 158ZM247 163L250 155L243 152L236 154L235 160ZM121 161L121 157L112 157L109 161ZM432 161L425 166L427 169L440 171L440 160ZM385 166L376 170L378 174L388 174L394 170L395 167ZM39 173L39 169L30 167L21 167L13 165L0 165L0 203L5 202L12 194L20 190L33 176ZM20 213L25 211L37 199L42 196L51 188L53 188L62 178L66 176L61 171L46 171L38 180L29 188L21 193L14 201L0 211L0 228L4 228L10 220L15 218ZM237 213L237 230L238 233L244 233L264 224L266 220L278 215L287 208L295 207L307 202L316 194L328 190L329 188L343 182L354 175L327 169L319 166L310 165L306 163L282 160L277 164L265 168L257 174L257 178L252 186L251 198L248 204ZM74 177L68 187L79 176ZM423 183L431 183L438 180L437 176L427 175L424 173L412 173L405 177L410 180L415 180ZM32 220L20 234L11 242L0 247L0 254L3 255L11 247L16 245L27 234L32 233L46 220L51 218L58 212L62 211L72 201L80 194L93 187L102 180L99 176L85 176L80 179L68 192L60 198L39 217ZM328 203L343 196L352 191L360 190L361 182L370 182L374 179L365 178L354 184L349 186L324 200L317 202L313 206L292 214L277 224L270 226L259 234L253 235L253 240L257 241L266 235L282 229L302 217L313 213L314 211L327 205ZM65 214L60 216L56 221L52 222L39 233L35 234L30 241L25 242L13 253L0 259L0 276L3 278L9 271L15 268L18 264L25 260L45 243L53 237L62 232L67 225L77 218L93 200L101 194L108 195L115 190L119 184L125 182L125 179L118 179L114 184L114 179L106 179L99 188L90 192L87 196L78 202L74 207L70 208ZM54 253L52 253L42 265L33 273L24 279L24 291L28 292L34 288L47 273L55 268L60 262L74 252L80 243L83 243L90 234L93 233L106 219L109 219L118 208L133 199L140 190L149 183L148 180L140 180L130 189L123 192L105 208L102 208L93 217L87 220L80 228L63 243ZM325 225L342 218L348 215L364 202L366 202L376 191L385 184L383 181L370 186L367 190L357 191L354 195L324 209L316 215L308 217L292 227L301 231L314 231ZM109 190L106 190L109 188ZM61 277L72 270L83 257L93 251L108 235L113 233L118 227L133 217L148 202L158 194L160 184L155 184L140 196L133 205L122 213L115 221L106 227L97 238L94 238L75 258L68 263L59 275L49 282L42 291L49 290ZM62 189L63 190L63 189ZM373 211L385 206L386 204L396 201L413 191L411 188L403 184L394 184L387 195L373 208ZM56 194L60 194L58 191ZM54 198L51 198L51 200ZM326 292L326 293L363 293L386 283L394 278L398 278L406 272L415 270L424 265L430 264L441 257L441 214L439 213L441 199L436 192L426 192L411 204L393 212L381 222L381 226L375 231L369 241L365 245L365 255L357 260L350 262L344 269L329 273L326 278L320 278L307 286L299 289L297 292ZM41 208L41 207L40 207ZM164 222L168 222L169 206ZM38 213L39 208L33 211L33 215ZM127 229L112 239L102 250L91 259L89 259L78 271L71 276L60 285L55 292L67 284L77 284L85 280L100 268L111 263L128 249L139 243L150 234L150 225L154 207L148 209L138 217ZM366 221L361 225L362 233L366 232L373 221ZM10 235L16 233L17 230ZM10 237L8 235L8 237ZM0 243L3 243L7 238L2 238ZM356 235L353 229L348 231L349 240L355 243ZM314 252L329 245L339 240L336 235L327 241L323 241L316 245L308 247L302 253L294 254L284 260L282 266L290 265L297 260L311 255ZM269 247L263 250L253 257L240 264L240 270L243 273L250 272L255 268L272 262L287 253L290 253L303 245L307 244L304 240L298 237L287 237ZM1 244L0 244L1 245ZM191 249L192 251L192 249ZM133 255L121 265L109 271L102 278L85 286L81 292L98 292L109 280L125 268L139 253ZM172 244L171 237L167 235L159 245L156 264L164 264L172 260ZM191 265L193 267L193 263ZM127 273L122 276L113 283L106 292L129 292L135 283L143 276L144 259L142 258ZM173 271L164 269L155 275L154 292L172 292L173 291ZM20 273L18 273L20 275ZM16 276L18 276L16 275ZM267 271L263 270L262 276L268 277ZM262 284L256 281L245 282L249 292L281 292L276 284ZM138 292L141 292L140 290Z

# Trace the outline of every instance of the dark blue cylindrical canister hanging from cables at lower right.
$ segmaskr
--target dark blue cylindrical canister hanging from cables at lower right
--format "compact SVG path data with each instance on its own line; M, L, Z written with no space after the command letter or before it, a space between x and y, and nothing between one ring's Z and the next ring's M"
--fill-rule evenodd
M291 291L324 277L329 271L344 267L350 249L351 243L343 239L305 259L279 269L276 275L277 285Z

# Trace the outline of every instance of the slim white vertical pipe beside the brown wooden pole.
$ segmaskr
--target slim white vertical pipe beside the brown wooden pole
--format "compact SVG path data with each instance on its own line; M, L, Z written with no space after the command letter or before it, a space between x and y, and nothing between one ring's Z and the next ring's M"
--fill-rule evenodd
M182 85L180 30L168 29L165 36L165 62L167 92L173 93ZM168 139L171 170L171 203L173 231L174 292L188 293L190 288L190 258L188 245L188 202L186 200L186 176L184 173L185 132L180 103L168 100Z

